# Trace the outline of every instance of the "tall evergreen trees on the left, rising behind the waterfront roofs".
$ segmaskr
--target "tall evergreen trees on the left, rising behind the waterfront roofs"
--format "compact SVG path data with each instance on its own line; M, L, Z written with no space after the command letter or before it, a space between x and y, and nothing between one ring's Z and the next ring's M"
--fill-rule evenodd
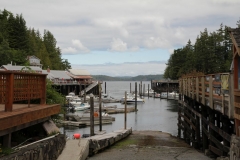
M48 66L53 70L71 68L67 60L61 58L61 50L57 47L53 34L44 30L27 28L22 15L14 16L7 10L0 11L0 66L12 61L16 65L27 65L28 55L41 59L43 69Z

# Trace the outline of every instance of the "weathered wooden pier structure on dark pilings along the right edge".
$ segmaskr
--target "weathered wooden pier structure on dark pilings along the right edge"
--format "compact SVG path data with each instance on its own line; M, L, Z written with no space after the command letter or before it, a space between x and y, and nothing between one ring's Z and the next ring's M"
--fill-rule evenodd
M229 29L229 34L230 72L179 79L178 136L197 149L232 160L240 159L240 28Z

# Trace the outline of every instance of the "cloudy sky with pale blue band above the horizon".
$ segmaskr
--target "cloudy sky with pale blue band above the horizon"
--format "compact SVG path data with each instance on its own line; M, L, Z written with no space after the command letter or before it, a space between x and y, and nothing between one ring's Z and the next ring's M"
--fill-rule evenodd
M0 0L28 28L50 31L62 58L91 75L163 74L201 31L236 28L240 0Z

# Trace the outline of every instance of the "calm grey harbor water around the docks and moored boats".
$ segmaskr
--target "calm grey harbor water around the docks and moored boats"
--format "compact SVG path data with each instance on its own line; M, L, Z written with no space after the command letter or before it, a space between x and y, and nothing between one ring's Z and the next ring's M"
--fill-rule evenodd
M130 81L107 81L106 90L107 94L116 99L124 97L125 91L135 90L135 82ZM150 82L142 82L145 84L147 90ZM138 84L139 85L139 82ZM102 84L103 92L105 92L105 83ZM127 128L132 127L133 130L154 130L171 133L177 136L177 111L178 104L175 100L165 100L159 98L145 97L145 103L138 104L138 112L131 112L127 114ZM123 108L124 104L121 103L107 103L106 106L117 105L117 107ZM128 105L130 107L131 105ZM132 106L135 106L134 104ZM82 112L78 111L73 114L81 115ZM103 125L102 129L107 132L112 132L124 128L124 114L111 114L115 117L115 121L112 124ZM64 127L62 131L72 137L74 133L89 134L90 127L78 128L78 127ZM94 127L95 131L99 130L99 126Z

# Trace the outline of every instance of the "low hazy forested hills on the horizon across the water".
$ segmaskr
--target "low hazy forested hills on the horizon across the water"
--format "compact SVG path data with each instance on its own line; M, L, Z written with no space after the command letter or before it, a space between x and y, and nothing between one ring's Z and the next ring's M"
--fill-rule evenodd
M151 81L163 79L162 74L157 75L139 75L135 77L122 76L122 77L111 77L105 75L91 75L93 79L98 81Z

